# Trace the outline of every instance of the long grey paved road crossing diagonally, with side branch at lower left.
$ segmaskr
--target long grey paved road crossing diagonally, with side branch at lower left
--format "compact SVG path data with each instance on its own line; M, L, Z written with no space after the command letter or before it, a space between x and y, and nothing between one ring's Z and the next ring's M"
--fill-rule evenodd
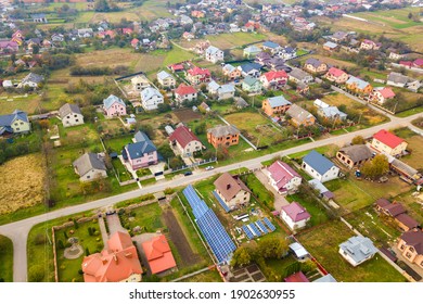
M101 199L98 201L80 204L80 205L75 205L75 206L69 206L56 211L49 212L47 214L42 215L37 215L30 218L22 219L15 223L7 224L3 226L0 226L0 235L3 235L8 238L10 238L13 242L14 251L13 251L13 280L14 281L26 281L27 280L27 255L26 255L26 243L27 243L27 238L28 238L28 232L33 228L34 225L37 225L39 223L43 223L47 220L51 220L54 218L63 217L63 216L68 216L72 214L85 212L85 211L90 211L90 210L95 210L108 205L116 204L118 202L125 201L125 200L130 200L138 198L140 195L146 194L146 193L154 193L158 191L164 191L166 188L176 188L180 186L185 186L189 183L193 183L195 181L211 177L215 174L218 173L223 173L223 172L229 172L233 169L238 169L240 167L247 167L247 168L257 168L260 167L261 162L269 161L275 156L279 155L287 155L287 154L293 154L293 153L298 153L302 151L315 149L318 147L335 143L337 145L344 145L347 144L351 141L351 139L358 135L362 137L371 137L374 132L379 131L382 128L385 129L392 129L396 127L410 127L415 129L411 125L411 121L423 116L423 114L415 114L406 118L399 118L392 116L392 121L389 123L379 125L375 127L371 127L364 130L358 130L341 136L332 136L326 139L309 142L299 147L294 147L291 149L286 149L280 152L275 152L272 154L267 154L260 157L256 157L253 160L227 165L223 167L218 167L214 170L210 172L201 172L201 173L194 173L191 176L185 176L181 177L178 179L174 180L164 180L161 182L157 182L152 186L144 187L143 189L138 189L129 192L125 192L118 195Z

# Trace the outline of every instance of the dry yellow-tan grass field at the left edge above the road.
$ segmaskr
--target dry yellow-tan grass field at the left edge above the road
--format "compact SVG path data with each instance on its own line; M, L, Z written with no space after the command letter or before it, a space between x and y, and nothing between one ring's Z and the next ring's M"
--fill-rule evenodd
M13 159L0 166L0 214L42 203L44 168L40 153Z

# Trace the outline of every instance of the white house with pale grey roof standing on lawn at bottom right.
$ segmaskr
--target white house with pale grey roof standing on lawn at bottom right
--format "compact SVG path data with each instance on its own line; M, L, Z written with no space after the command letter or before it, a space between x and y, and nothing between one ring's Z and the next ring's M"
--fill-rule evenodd
M339 244L339 254L354 267L371 259L377 253L377 249L369 238L361 236L351 237Z

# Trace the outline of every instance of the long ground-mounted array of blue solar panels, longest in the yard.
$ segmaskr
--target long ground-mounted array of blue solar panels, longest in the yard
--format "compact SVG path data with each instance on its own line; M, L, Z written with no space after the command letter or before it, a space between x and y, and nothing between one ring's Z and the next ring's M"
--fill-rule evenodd
M200 199L190 185L182 191L194 213L196 224L219 263L228 262L236 246L217 218L216 214Z

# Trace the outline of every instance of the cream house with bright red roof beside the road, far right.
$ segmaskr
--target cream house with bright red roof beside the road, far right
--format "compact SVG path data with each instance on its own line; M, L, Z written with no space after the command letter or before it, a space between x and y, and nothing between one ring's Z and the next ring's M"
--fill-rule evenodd
M396 156L407 150L407 142L402 138L382 129L373 135L371 148L380 153Z

